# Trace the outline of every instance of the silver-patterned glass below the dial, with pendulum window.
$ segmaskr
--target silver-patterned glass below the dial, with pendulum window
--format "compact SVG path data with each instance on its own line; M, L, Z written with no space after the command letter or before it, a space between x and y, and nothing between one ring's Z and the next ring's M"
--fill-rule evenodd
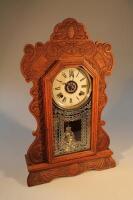
M55 156L90 149L91 104L91 95L76 110L60 109L53 102Z

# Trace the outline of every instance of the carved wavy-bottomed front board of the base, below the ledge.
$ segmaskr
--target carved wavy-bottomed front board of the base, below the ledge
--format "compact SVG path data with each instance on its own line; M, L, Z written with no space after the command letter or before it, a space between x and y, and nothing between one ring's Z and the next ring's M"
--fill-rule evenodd
M75 176L88 170L104 170L115 167L114 159L110 157L88 159L81 163L73 163L67 166L54 167L40 171L29 172L27 178L28 186L48 183L54 178Z

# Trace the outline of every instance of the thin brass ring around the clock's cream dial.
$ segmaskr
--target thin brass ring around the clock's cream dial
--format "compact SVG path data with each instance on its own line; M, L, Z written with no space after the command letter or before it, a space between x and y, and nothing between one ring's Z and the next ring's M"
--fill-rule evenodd
M61 106L61 104L59 104L59 103L56 102L55 97L54 97L54 94L53 94L53 89L52 89L53 101L54 101L55 105L56 105L58 108L62 109L62 110L73 110L73 109L77 109L77 108L79 108L79 107L81 107L81 106L84 106L85 103L87 102L88 98L89 98L90 95L91 95L91 92L92 92L92 77L87 73L87 71L84 70L84 68L83 68L82 65L74 65L74 66L70 65L70 66L64 66L64 68L76 68L76 69L81 70L82 73L86 75L86 77L87 77L87 79L88 79L88 81L89 81L89 84L90 84L89 89L88 89L88 93L87 93L85 99L83 99L80 103L78 103L78 104L76 104L76 105L74 105L74 106L63 107L63 106ZM63 69L64 69L64 68L63 68ZM59 73L60 73L63 69L61 69L61 70L59 71ZM58 73L58 74L59 74L59 73ZM58 75L58 74L57 74L57 75ZM57 75L56 75L56 76L57 76ZM54 77L54 79L56 78L56 76ZM54 82L54 80L53 80L53 82ZM53 86L53 82L52 82L52 86Z

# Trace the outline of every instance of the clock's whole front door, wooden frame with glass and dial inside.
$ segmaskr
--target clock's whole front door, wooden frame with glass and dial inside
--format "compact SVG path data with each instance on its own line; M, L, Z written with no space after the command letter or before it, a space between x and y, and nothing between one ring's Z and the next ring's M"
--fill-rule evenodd
M91 66L63 61L43 85L49 162L95 154L98 77Z

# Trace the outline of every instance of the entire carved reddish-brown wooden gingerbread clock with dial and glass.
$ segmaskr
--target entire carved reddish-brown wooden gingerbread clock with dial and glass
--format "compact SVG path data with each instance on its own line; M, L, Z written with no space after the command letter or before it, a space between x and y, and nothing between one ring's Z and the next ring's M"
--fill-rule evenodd
M115 167L101 119L112 65L111 46L90 40L72 18L48 42L25 46L21 71L33 83L29 109L37 121L25 156L28 186Z

